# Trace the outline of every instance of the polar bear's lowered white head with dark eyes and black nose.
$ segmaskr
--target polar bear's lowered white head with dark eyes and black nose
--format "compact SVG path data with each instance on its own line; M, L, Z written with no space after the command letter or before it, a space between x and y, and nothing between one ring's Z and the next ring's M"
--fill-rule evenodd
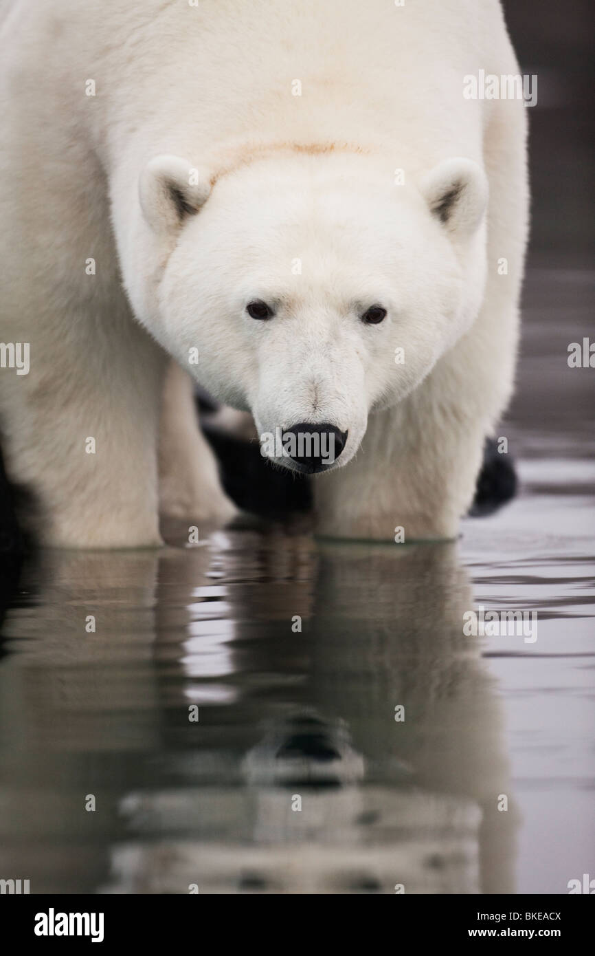
M269 458L342 466L369 414L477 317L486 201L467 159L395 185L359 154L287 150L218 174L160 156L139 181L152 265L133 305L208 391L251 411Z

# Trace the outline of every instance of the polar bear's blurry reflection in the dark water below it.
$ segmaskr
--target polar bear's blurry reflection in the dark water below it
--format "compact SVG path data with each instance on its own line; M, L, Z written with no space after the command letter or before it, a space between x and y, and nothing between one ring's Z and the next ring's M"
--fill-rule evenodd
M499 701L455 545L252 528L47 550L31 580L0 667L0 872L35 893L513 891Z

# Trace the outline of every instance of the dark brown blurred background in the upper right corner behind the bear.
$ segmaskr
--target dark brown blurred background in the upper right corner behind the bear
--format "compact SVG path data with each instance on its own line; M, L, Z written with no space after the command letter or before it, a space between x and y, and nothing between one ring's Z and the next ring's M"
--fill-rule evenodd
M504 0L521 73L539 76L528 110L533 194L531 260L593 265L595 9L589 0Z

